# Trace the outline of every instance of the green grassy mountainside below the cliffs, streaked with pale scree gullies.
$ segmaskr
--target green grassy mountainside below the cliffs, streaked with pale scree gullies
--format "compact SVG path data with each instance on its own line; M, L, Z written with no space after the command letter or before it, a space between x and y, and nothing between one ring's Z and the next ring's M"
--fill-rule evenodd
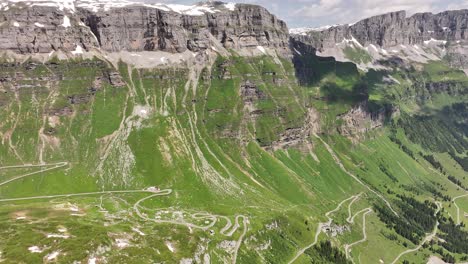
M448 68L432 62L367 73L314 56L301 62L309 77L299 83L289 61L234 53L203 69L115 69L99 59L3 63L2 77L13 81L0 86L0 180L21 178L0 185L0 259L32 263L58 252L61 263L288 263L304 249L298 263L391 263L417 243L376 208L388 202L409 221L405 195L440 201L455 218L451 199L466 192L448 176L468 186L454 159L467 154L458 111L466 77L454 70L442 80ZM385 82L389 74L400 83ZM411 85L427 76L456 84ZM338 116L363 100L371 112L391 104L400 114L356 143L337 132ZM310 111L319 129L309 130ZM444 111L458 114L443 119ZM451 134L433 144L434 133ZM65 163L53 168L58 162ZM14 165L22 167L3 168ZM104 192L150 186L172 193ZM465 200L457 200L461 211ZM367 209L367 239L357 243ZM352 223L350 212L358 213ZM327 216L344 231L317 234ZM347 260L346 245L353 245ZM433 251L405 257L424 263Z

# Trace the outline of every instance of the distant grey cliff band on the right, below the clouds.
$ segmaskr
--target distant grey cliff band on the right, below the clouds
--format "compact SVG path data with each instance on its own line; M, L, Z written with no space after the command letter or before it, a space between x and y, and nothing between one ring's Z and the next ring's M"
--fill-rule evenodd
M405 11L400 11L374 16L353 25L310 31L295 35L294 38L310 43L319 50L353 38L364 46L374 44L386 48L422 44L431 40L467 40L467 23L468 10L420 13L411 17L406 17Z

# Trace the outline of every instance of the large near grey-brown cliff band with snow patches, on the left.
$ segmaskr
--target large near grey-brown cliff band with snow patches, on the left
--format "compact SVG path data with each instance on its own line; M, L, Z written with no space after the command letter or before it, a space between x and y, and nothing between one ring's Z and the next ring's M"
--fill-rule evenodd
M118 51L199 51L211 41L227 49L257 46L289 52L286 24L255 5L200 4L197 12L163 6L127 5L72 8L17 3L0 9L0 50L16 53ZM75 3L73 2L73 3ZM209 6L207 6L209 5ZM79 49L79 48L78 48Z

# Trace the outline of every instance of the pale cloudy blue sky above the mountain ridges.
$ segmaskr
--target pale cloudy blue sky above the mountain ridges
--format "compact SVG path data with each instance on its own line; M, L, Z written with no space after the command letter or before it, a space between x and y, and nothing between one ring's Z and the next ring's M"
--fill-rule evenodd
M147 0L148 2L152 0ZM197 0L155 0L156 2L192 4ZM354 23L362 18L391 11L440 12L468 9L468 0L228 0L262 5L290 28Z

